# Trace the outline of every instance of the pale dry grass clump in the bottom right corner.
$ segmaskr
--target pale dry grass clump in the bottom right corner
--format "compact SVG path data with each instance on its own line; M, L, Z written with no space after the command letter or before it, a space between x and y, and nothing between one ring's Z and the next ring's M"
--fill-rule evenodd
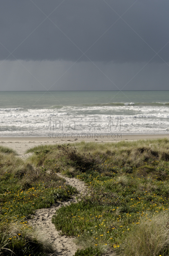
M169 255L169 213L145 214L126 235L126 256Z

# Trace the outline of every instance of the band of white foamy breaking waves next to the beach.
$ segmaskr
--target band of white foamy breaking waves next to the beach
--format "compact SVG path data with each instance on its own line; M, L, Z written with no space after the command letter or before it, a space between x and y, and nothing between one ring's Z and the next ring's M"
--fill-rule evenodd
M136 106L132 102L123 106L1 108L0 135L47 136L51 130L59 133L167 133L168 118L169 106Z

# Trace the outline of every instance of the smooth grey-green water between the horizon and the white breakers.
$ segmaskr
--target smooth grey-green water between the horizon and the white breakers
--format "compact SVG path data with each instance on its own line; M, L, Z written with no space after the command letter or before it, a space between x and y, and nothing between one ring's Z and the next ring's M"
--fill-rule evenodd
M0 108L167 103L169 91L0 92Z

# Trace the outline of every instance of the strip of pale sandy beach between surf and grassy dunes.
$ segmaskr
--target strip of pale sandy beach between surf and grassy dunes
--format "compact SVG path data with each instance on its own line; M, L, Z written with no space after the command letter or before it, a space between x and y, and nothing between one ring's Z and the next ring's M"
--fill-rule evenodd
M95 142L118 142L121 140L154 140L154 139L162 139L169 138L169 134L133 134L133 135L122 135L122 136L88 136L86 138L80 136L72 136L72 137L63 137L63 138L49 138L49 137L1 137L0 145L12 148L17 151L18 155L26 156L25 152L29 148L33 148L35 146L39 146L42 144L55 144L55 143L73 143L80 141L95 141Z

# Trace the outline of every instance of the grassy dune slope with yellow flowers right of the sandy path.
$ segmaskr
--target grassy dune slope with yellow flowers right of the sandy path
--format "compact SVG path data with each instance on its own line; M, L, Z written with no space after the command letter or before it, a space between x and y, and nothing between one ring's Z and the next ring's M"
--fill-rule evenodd
M168 255L168 140L82 142L28 152L35 152L29 159L35 166L76 177L89 188L78 204L53 216L62 235L76 236L98 253Z

